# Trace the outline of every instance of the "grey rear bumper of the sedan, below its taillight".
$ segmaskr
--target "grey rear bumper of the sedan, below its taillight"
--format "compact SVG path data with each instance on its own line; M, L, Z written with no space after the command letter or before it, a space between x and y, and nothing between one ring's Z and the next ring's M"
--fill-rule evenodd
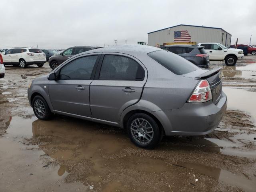
M185 103L180 109L152 112L164 127L165 134L205 135L220 123L227 108L227 96L222 92L219 102Z

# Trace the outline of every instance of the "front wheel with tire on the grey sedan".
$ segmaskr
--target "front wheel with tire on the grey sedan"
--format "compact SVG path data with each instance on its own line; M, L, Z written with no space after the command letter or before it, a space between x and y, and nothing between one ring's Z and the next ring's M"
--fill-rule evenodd
M39 108L39 106L41 106ZM32 101L32 108L36 117L40 120L49 120L52 117L52 112L41 96L37 95ZM44 110L43 110L44 109Z

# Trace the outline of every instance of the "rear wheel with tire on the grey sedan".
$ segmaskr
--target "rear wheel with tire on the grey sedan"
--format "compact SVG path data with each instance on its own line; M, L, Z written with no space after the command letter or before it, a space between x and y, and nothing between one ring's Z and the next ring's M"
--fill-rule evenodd
M136 122L138 124L137 127L134 126ZM139 125L139 123L141 124ZM146 149L156 147L163 135L156 121L144 113L132 115L126 124L126 130L130 140L136 146Z

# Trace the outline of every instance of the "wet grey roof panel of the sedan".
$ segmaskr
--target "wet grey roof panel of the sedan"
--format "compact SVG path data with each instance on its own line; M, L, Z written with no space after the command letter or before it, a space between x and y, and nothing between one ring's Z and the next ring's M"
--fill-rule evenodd
M152 47L148 45L117 45L117 46L108 46L103 48L98 48L90 51L86 51L86 53L92 52L118 52L118 53L126 53L126 52L142 52L142 53L150 53L153 51L162 50L157 47Z

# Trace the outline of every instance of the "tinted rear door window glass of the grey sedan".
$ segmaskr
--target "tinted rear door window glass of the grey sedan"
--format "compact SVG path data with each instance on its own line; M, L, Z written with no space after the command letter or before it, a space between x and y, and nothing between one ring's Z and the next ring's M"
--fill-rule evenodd
M144 80L145 71L135 60L119 55L105 55L100 69L102 80Z

